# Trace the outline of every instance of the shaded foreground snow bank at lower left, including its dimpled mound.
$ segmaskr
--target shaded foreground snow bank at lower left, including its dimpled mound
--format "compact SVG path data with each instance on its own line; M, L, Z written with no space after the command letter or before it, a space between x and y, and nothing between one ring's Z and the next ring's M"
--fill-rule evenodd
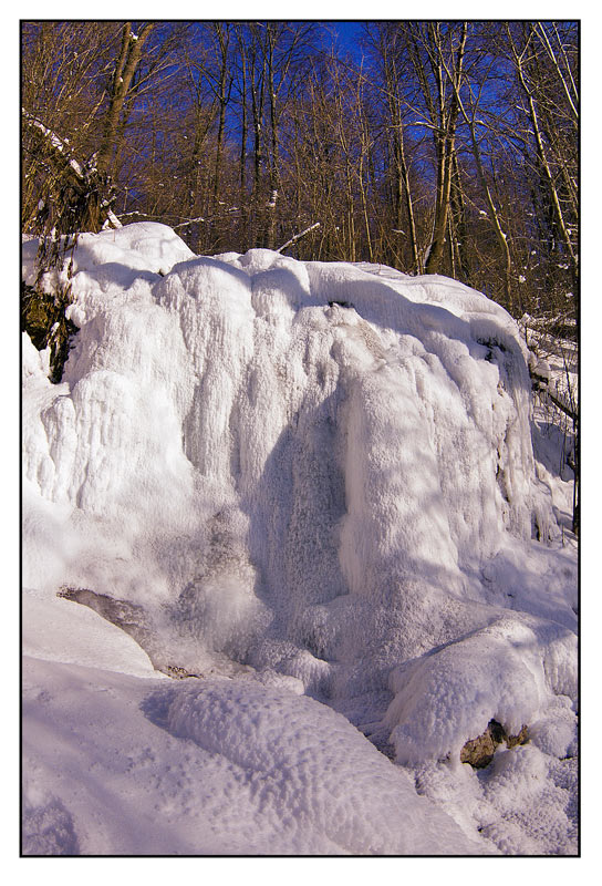
M190 682L25 660L25 854L481 851L323 704Z

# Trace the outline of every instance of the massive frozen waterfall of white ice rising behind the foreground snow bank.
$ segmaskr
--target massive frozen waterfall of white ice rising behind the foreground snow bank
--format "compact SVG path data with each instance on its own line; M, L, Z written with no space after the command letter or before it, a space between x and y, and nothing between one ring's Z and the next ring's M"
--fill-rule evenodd
M48 606L135 607L166 672L297 678L401 764L575 702L574 559L499 306L380 266L196 257L150 223L82 235L73 293L61 384L23 342L24 584ZM553 598L513 587L538 557Z

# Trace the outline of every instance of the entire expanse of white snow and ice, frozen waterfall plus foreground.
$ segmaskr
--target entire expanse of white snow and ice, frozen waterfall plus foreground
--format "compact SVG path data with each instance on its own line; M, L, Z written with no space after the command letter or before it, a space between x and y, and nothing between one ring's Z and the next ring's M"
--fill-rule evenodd
M572 481L511 318L150 223L73 293L61 384L23 338L23 852L574 854ZM527 743L461 763L491 720Z

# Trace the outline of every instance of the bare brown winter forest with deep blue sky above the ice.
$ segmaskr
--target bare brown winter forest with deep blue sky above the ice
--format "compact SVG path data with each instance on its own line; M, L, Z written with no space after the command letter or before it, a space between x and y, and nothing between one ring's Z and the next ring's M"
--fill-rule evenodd
M574 334L579 23L335 24L22 22L23 231L443 274Z

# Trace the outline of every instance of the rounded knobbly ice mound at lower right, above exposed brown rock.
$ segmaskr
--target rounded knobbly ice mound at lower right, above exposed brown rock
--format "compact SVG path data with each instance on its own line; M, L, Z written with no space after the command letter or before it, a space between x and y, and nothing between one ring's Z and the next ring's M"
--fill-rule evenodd
M390 678L395 698L385 717L397 762L459 761L469 739L490 720L518 735L522 727L577 697L577 638L557 626L502 618Z

